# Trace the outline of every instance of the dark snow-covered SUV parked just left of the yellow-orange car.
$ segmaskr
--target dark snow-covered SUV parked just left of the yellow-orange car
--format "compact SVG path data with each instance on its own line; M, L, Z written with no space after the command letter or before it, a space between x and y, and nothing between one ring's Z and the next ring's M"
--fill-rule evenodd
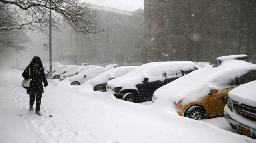
M191 61L151 62L108 81L107 90L125 101L151 101L156 89L197 69Z

